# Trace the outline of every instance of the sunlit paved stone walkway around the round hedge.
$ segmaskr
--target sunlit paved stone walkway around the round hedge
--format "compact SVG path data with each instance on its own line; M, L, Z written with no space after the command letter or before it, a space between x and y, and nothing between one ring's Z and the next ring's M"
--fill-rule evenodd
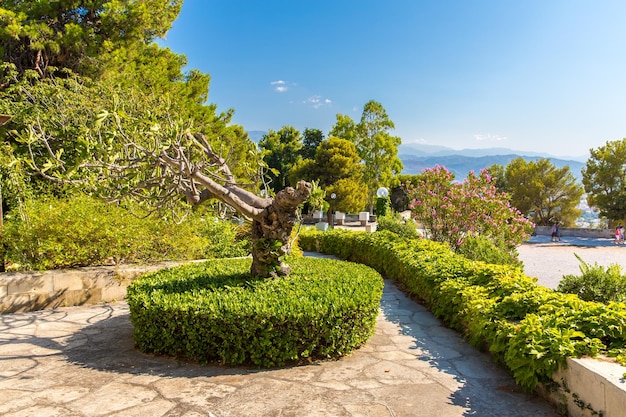
M137 352L124 302L1 315L0 415L557 414L386 281L376 334L365 346L339 361L273 370Z

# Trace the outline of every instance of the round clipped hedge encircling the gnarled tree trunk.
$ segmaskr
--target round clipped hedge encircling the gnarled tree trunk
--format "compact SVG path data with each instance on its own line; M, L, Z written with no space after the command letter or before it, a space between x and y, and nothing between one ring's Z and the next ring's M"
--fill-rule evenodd
M250 259L161 270L128 288L135 345L227 365L337 358L374 332L383 280L365 265L294 258L289 277L252 277Z

